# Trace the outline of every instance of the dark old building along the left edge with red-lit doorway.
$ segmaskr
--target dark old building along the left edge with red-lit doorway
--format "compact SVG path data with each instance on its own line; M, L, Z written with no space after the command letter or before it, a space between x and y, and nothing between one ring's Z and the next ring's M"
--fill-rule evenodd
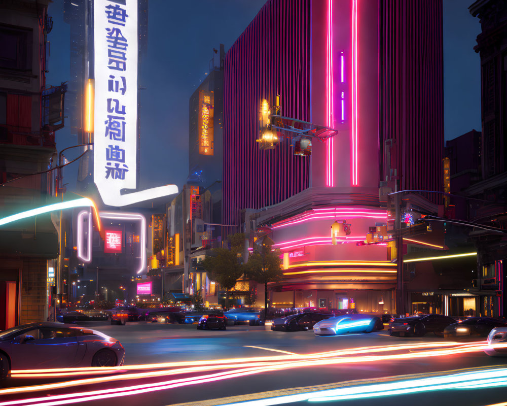
M0 207L2 217L49 204L65 86L46 89L48 1L1 1ZM0 227L0 330L45 320L58 255L49 214Z

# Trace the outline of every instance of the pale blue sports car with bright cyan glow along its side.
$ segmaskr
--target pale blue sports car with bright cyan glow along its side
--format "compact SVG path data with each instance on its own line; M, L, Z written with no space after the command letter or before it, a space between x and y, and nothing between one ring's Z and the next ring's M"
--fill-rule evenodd
M348 314L330 317L313 326L315 335L341 335L347 333L370 333L384 329L378 316L369 314Z

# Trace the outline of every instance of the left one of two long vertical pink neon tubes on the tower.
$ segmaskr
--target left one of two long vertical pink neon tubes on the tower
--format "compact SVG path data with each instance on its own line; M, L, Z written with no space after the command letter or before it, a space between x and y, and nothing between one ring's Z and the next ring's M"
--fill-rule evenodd
M327 67L326 67L326 87L327 87L327 117L326 124L333 127L333 0L328 0L328 41L327 41ZM326 186L333 187L334 179L334 141L333 137L326 141Z

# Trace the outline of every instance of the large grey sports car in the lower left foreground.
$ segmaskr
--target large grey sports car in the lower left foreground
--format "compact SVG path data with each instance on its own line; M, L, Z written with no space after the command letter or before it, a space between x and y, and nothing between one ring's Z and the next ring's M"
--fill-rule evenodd
M119 366L124 358L118 340L73 324L28 323L0 332L0 379L11 369Z

